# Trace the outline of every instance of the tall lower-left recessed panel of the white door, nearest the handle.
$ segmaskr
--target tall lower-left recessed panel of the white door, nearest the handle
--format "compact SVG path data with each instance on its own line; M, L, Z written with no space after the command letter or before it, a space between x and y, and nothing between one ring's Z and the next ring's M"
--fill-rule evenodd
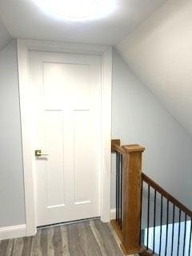
M49 152L46 161L47 207L64 206L64 173L63 173L63 117L62 111L45 111L45 141ZM47 151L46 150L46 151ZM57 171L55 171L57 170Z

